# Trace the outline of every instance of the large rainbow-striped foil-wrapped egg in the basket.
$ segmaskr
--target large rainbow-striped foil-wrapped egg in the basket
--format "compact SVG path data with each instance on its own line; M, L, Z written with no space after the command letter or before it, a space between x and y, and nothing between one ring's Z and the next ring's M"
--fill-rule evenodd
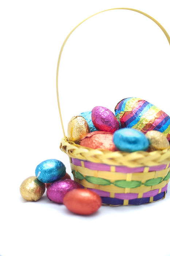
M134 128L143 133L162 132L170 140L170 117L153 104L140 98L121 100L115 108L121 128Z

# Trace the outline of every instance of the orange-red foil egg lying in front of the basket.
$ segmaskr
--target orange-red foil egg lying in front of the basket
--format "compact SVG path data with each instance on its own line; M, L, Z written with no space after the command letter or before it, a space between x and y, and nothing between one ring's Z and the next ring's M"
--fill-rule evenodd
M89 189L77 188L66 193L63 204L71 212L89 215L100 208L101 197Z

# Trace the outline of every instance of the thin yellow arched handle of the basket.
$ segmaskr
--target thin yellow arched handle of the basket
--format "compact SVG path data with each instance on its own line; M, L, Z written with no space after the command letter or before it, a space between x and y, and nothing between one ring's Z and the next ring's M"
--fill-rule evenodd
M147 18L153 20L159 27L160 29L163 31L163 33L165 34L169 44L170 44L170 37L169 37L169 34L167 33L167 31L164 29L164 27L157 21L155 20L154 18L152 18L150 15L146 14L145 12L142 12L142 11L139 11L139 10L136 10L136 9L131 9L131 8L112 8L112 9L108 9L108 10L104 10L104 11L100 11L100 12L97 12L91 16L89 16L88 18L84 19L82 22L80 22L76 27L74 27L74 29L67 35L65 41L63 42L62 46L61 46L61 50L59 52L59 57L58 57L58 63L57 63L57 77L56 77L56 86L57 86L57 101L58 101L58 110L59 110L59 116L60 116L60 120L61 120L61 126L62 126L62 130L63 130L63 135L64 135L64 139L65 141L67 141L66 139L66 135L65 135L65 131L64 131L64 126L63 126L63 121L62 121L62 116L61 116L61 108L60 108L60 104L59 104L59 94L58 94L58 72L59 72L59 64L60 64L60 60L61 60L61 54L62 54L62 51L63 51L63 48L67 42L67 39L70 37L70 35L73 33L73 31L75 29L77 29L77 27L79 27L82 23L84 23L86 20L90 19L91 17L97 15L97 14L100 14L102 12L106 12L106 11L111 11L111 10L130 10L130 11L135 11L135 12L139 12L140 14L143 14L144 16L146 16Z

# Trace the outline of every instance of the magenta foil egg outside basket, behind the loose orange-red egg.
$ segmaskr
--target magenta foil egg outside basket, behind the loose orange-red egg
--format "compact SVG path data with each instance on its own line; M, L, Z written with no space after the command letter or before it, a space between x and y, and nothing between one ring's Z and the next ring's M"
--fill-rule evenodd
M81 188L81 186L74 180L58 180L47 188L47 197L55 203L62 204L65 194L74 188Z

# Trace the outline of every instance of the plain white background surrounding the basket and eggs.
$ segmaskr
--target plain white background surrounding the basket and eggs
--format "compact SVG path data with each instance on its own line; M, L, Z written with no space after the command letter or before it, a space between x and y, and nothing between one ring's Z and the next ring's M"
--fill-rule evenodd
M166 199L142 206L101 207L74 215L46 195L26 202L22 181L56 158L63 136L55 88L62 42L81 20L116 7L136 8L170 33L167 0L0 1L0 255L170 255ZM65 129L74 114L110 108L127 97L143 98L170 114L170 50L150 19L126 10L97 15L67 42L59 93Z

